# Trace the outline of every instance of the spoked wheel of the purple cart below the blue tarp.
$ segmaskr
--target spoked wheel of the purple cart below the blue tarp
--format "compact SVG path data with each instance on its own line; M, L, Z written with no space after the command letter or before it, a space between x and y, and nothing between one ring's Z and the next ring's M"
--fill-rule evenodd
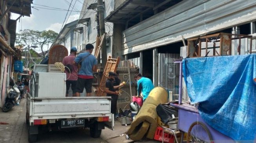
M212 135L201 122L194 122L187 133L187 143L214 143Z

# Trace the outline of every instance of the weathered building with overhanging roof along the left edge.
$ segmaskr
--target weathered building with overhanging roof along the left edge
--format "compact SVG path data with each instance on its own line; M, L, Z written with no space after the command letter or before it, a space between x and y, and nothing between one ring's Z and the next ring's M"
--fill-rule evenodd
M0 107L4 105L10 78L13 76L13 64L21 58L15 48L16 22L21 16L30 16L33 0L0 1ZM20 14L11 20L11 13ZM19 59L20 60L20 59Z

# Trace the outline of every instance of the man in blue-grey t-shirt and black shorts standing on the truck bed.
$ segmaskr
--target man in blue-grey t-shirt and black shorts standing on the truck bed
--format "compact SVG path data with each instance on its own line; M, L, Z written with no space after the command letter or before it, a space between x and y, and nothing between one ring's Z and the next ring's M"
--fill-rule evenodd
M93 52L93 48L93 45L87 44L85 46L86 52L79 54L73 61L73 64L81 64L76 84L76 97L80 97L80 93L83 93L84 88L86 90L86 96L91 96L93 72L97 71L98 64L96 57L91 54Z

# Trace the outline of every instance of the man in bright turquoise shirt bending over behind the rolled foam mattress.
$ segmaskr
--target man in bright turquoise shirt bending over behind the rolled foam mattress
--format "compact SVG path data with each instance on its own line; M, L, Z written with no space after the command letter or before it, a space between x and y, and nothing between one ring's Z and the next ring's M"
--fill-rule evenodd
M142 77L140 73L137 73L135 75L135 78L137 77L138 80L138 95L143 97L143 101L146 100L146 98L149 96L150 91L154 88L153 82L146 77Z

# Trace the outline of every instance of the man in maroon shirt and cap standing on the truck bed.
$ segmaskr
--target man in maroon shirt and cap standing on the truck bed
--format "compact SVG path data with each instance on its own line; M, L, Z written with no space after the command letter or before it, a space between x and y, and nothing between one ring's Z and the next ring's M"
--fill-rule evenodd
M75 96L75 93L76 93L75 89L76 89L76 81L77 81L78 75L77 75L77 66L75 66L73 64L73 61L76 58L76 52L77 52L76 47L72 47L70 49L70 55L64 57L64 59L62 60L62 63L64 64L64 66L67 66L67 67L70 68L70 69L65 70L65 73L66 73L66 76L67 76L66 97L69 95L70 85L71 85L73 97Z

